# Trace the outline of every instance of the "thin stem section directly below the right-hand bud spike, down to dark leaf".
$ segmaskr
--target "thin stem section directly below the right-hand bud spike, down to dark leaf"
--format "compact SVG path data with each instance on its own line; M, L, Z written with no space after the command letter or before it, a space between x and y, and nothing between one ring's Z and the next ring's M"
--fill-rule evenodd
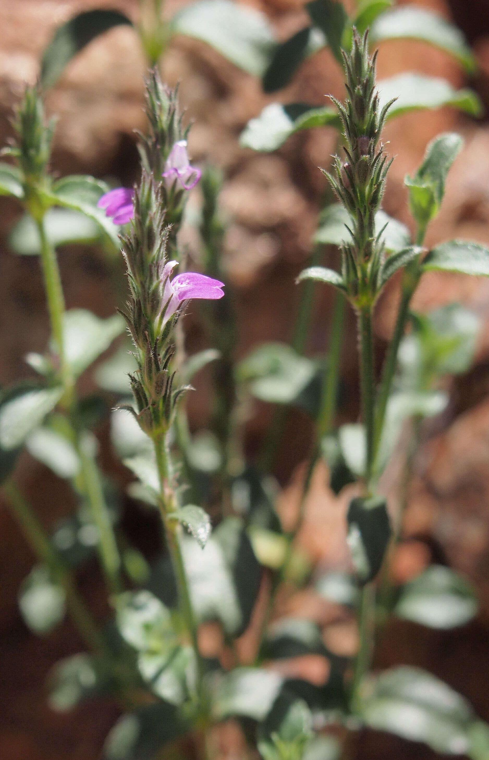
M365 480L370 483L373 467L373 421L375 378L373 372L373 334L372 307L364 306L358 314L358 333L360 342L360 389L362 420L366 438Z

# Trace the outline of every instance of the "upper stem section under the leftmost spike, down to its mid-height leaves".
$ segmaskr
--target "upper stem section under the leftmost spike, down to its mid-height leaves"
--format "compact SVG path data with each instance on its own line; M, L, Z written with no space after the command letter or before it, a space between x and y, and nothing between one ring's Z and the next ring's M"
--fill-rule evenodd
M39 215L34 218L40 236L41 266L43 268L44 287L46 288L49 320L51 322L52 341L59 360L59 375L62 385L65 388L66 405L68 406L71 401L73 378L65 356L65 340L63 335L65 297L63 295L56 252L46 236L44 215Z

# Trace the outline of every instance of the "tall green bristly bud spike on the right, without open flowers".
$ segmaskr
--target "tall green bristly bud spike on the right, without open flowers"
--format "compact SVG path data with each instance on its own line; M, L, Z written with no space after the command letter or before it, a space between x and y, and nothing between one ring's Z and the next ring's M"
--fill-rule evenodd
M347 75L345 103L335 101L345 138L346 160L336 156L334 173L325 173L351 214L351 243L341 247L342 274L351 299L361 306L376 295L383 244L375 233L375 215L382 202L391 161L379 143L391 103L381 109L376 91L376 53L370 58L367 33L354 31L350 55L343 52Z

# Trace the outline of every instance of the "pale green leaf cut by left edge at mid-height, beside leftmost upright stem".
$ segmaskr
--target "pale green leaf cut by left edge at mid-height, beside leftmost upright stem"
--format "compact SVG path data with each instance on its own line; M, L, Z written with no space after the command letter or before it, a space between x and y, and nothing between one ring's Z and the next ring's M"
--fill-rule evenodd
M23 444L46 414L56 407L62 394L59 385L56 388L18 386L5 393L0 402L0 446L11 451Z

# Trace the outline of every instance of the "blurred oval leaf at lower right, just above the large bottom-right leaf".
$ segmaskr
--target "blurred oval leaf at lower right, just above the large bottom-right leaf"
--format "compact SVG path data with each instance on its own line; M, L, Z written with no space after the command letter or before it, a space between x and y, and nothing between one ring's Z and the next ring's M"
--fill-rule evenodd
M460 575L443 565L430 565L405 585L395 614L428 628L450 629L471 620L477 609L477 598Z

